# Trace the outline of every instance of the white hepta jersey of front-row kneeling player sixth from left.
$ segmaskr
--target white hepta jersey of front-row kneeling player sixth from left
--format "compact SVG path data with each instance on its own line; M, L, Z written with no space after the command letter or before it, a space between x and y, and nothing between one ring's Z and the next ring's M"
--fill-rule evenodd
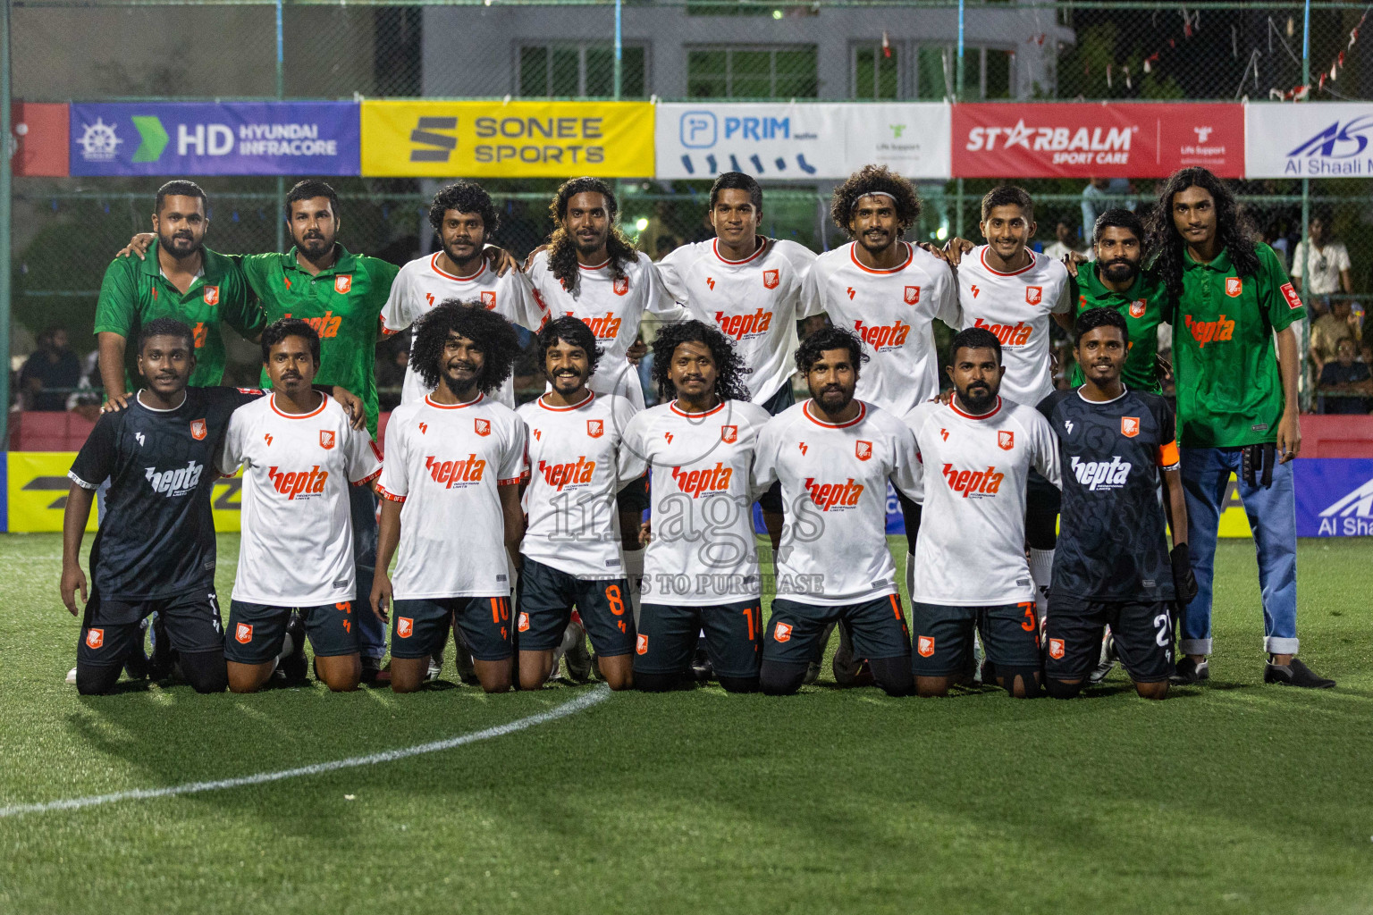
M758 438L754 486L781 480L777 597L838 606L895 594L887 482L910 495L916 464L910 429L870 403L838 425L816 418L810 401L774 416Z

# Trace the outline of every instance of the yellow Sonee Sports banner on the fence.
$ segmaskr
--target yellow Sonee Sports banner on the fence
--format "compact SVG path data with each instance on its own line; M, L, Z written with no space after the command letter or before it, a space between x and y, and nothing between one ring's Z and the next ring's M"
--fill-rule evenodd
M654 174L648 102L362 102L368 177Z

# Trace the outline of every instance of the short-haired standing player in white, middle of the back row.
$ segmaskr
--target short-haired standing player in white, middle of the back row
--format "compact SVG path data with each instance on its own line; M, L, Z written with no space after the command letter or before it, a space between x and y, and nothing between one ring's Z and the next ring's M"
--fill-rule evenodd
M750 399L777 416L796 402L796 321L802 283L816 255L795 241L758 235L763 192L743 171L726 171L710 185L715 237L684 244L658 262L663 284L697 321L714 324L735 342ZM781 536L781 490L758 499L776 547Z

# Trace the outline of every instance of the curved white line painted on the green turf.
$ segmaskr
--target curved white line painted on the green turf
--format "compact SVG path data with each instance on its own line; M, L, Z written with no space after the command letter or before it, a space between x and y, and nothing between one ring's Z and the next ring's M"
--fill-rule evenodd
M540 712L538 715L530 715L529 717L522 717L508 724L497 724L496 727L487 727L482 731L472 731L471 734L460 734L459 737L449 737L442 741L431 741L428 744L416 744L415 746L404 746L395 750L383 750L380 753L368 753L367 756L350 756L342 760L334 760L330 763L314 763L313 765L301 765L299 768L284 768L276 772L258 772L257 775L240 775L239 778L225 778L217 782L187 782L185 785L170 785L168 787L140 787L129 792L114 792L111 794L91 794L88 797L69 797L60 801L47 801L45 804L14 804L11 807L0 807L0 819L5 816L19 816L22 813L48 813L51 811L76 811L82 807L100 807L102 804L114 804L115 801L146 801L157 797L177 797L180 794L199 794L202 792L220 792L227 787L243 787L246 785L265 785L268 782L280 782L287 778L299 778L302 775L320 775L323 772L332 772L341 768L357 768L360 765L376 765L378 763L394 763L395 760L408 759L411 756L422 756L424 753L438 753L439 750L450 750L454 746L463 746L465 744L476 744L478 741L489 741L493 737L505 737L507 734L514 734L516 731L523 731L531 728L537 724L546 724L548 722L556 722L560 717L567 717L568 715L577 715L578 712L590 708L599 702L604 702L610 698L610 687L601 683L596 689L578 696L570 702L563 702L546 712Z

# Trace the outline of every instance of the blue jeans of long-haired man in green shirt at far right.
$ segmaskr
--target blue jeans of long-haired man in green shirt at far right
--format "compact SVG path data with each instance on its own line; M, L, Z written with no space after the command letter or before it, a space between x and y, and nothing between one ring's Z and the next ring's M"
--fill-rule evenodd
M1292 462L1273 468L1273 486L1249 486L1241 473L1243 449L1184 449L1182 490L1188 502L1188 551L1197 576L1197 595L1182 617L1184 654L1211 653L1211 597L1215 540L1230 473L1238 476L1240 499L1254 530L1263 597L1263 650L1296 654L1296 501Z

